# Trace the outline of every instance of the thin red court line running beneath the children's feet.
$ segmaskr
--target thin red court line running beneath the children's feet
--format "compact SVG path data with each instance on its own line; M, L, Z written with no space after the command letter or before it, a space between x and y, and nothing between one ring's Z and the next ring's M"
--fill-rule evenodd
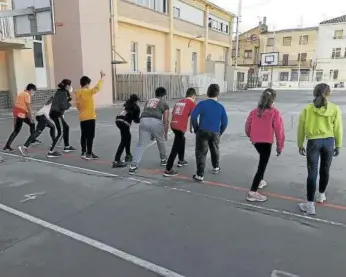
M2 144L0 144L1 147L3 147ZM36 153L47 153L47 151L43 151L41 149L37 149L37 148L31 148L30 151L32 152L36 152ZM74 156L72 154L68 154L68 153L64 153L63 157L66 157L70 160L78 160L81 161L80 157ZM108 165L111 166L111 162L109 161L105 161L105 160L95 160L95 161L88 161L91 163L96 163L96 164L102 164L102 165ZM147 172L149 174L153 174L153 175L162 175L163 171L159 170L159 169L141 169L141 171ZM176 177L174 177L174 179L180 179L180 180L192 180L191 177L188 176L184 176L184 175L178 175ZM214 182L214 181L204 181L203 183L204 185L208 185L208 186L215 186L215 187L223 187L223 188L229 188L229 189L233 189L236 191L242 191L242 192L248 192L249 189L247 188L243 188L243 187L238 187L238 186L234 186L234 185L229 185L229 184L224 184L224 183L219 183L219 182ZM283 200L288 200L291 202L302 202L305 201L304 199L301 198L297 198L297 197L292 197L292 196L287 196L284 194L279 194L279 193L273 193L273 192L262 192L263 195L266 196L270 196L273 198L277 198L277 199L283 199ZM324 206L324 207L328 207L328 208L332 208L335 210L340 210L340 211L346 211L346 206L343 205L338 205L338 204L331 204L331 203L324 203L324 204L318 204L319 206Z

